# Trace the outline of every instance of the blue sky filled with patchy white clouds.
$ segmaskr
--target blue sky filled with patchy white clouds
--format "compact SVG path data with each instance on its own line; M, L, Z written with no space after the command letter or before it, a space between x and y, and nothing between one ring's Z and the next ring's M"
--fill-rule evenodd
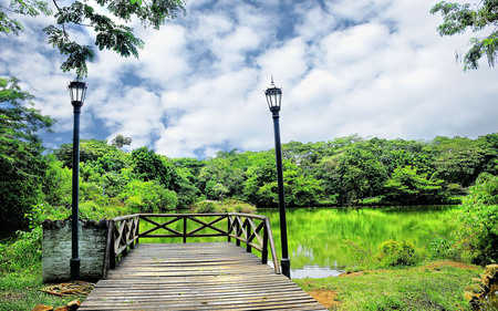
M7 0L0 0L2 3ZM131 137L170 158L273 147L264 90L282 87L282 143L362 137L429 141L498 132L496 68L455 59L483 33L439 37L438 0L189 0L160 30L135 25L139 59L96 50L81 137ZM461 2L461 1L460 1ZM0 76L17 76L58 123L49 147L72 142L74 73L25 18L0 34ZM486 30L485 30L486 32ZM92 43L90 29L76 33Z

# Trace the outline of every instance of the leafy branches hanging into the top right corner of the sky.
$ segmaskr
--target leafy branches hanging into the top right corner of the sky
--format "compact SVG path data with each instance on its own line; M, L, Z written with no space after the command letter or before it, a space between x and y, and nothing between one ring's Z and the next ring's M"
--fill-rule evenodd
M430 13L437 12L444 18L444 22L437 28L442 37L464 33L468 29L479 32L491 28L490 34L470 39L471 48L464 56L464 71L478 69L478 62L484 55L488 59L488 65L495 66L498 56L498 1L483 0L473 9L470 3L442 1L430 9ZM459 58L457 52L457 59Z

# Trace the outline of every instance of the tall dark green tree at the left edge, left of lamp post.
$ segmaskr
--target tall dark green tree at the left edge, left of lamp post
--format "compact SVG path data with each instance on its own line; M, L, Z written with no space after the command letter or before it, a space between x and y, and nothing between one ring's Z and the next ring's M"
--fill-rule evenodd
M42 197L48 164L39 131L50 131L54 122L31 100L18 79L0 77L0 218L12 227L24 225L24 214Z

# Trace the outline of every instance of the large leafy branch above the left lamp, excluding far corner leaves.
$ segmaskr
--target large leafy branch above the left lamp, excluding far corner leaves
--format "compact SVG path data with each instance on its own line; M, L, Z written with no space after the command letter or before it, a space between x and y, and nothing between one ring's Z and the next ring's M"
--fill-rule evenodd
M86 2L75 1L71 6L59 8L55 13L58 25L44 28L49 34L49 43L66 54L66 61L61 65L64 72L75 70L79 76L87 74L86 61L92 61L92 46L81 45L71 41L68 25L90 25L95 31L95 45L100 50L113 50L121 56L138 58L138 49L144 42L136 38L133 28L117 24L115 20L128 23L137 18L146 27L159 29L168 18L175 18L178 11L184 11L183 0L159 0L154 2L131 3L129 0L100 0L101 8L93 8Z

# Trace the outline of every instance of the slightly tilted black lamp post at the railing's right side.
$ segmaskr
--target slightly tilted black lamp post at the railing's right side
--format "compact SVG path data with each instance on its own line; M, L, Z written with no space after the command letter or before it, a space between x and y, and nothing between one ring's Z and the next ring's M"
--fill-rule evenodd
M287 220L286 220L286 199L283 196L283 173L282 173L282 149L280 147L280 126L279 126L279 111L282 104L282 89L274 86L273 76L271 77L271 85L264 91L267 96L268 107L273 115L273 131L274 131L274 155L277 159L277 182L279 185L279 211L280 211L280 237L282 242L282 273L290 276L290 259L287 246Z

